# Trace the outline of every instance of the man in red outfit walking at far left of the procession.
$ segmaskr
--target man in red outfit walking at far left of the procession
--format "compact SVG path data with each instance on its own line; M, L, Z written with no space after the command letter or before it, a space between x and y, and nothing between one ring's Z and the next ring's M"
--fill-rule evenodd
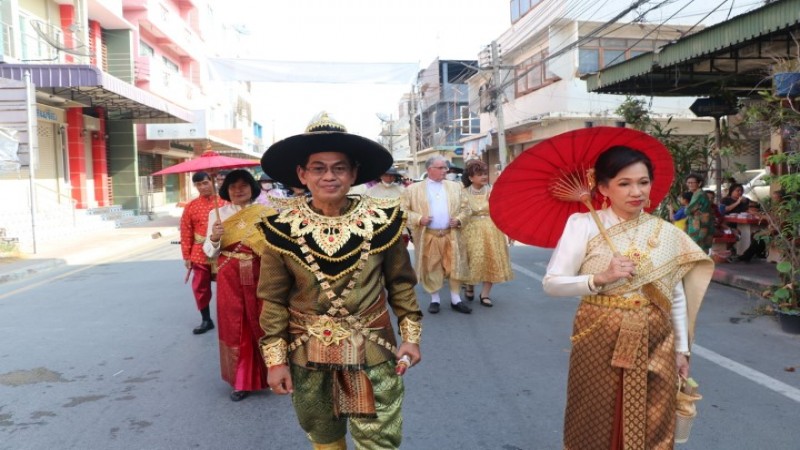
M213 180L205 172L192 175L192 182L200 197L190 201L181 216L181 253L187 270L192 272L192 292L202 321L192 332L203 334L214 329L209 305L211 304L211 262L203 253L203 242L208 231L208 213L222 201L214 195Z

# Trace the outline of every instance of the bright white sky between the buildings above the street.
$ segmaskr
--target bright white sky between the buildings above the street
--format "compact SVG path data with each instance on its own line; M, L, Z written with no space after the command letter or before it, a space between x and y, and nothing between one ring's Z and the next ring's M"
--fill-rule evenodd
M223 2L220 2L223 3ZM508 0L228 0L223 14L271 61L416 63L477 59L510 27ZM247 49L239 49L240 51ZM240 53L241 54L241 53ZM244 56L244 55L242 55ZM409 84L255 83L253 110L271 143L328 111L351 133L377 139L378 115L397 116Z

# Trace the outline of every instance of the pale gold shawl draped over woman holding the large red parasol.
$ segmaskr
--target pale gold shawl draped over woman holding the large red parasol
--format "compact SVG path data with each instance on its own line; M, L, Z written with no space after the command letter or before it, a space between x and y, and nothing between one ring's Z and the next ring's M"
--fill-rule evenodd
M608 228L615 247L637 262L636 276L619 280L603 287L604 295L624 295L641 291L655 296L654 303L671 305L673 291L683 281L689 329L689 344L694 341L694 326L703 301L714 263L685 232L672 224L642 213L638 219L629 220ZM580 273L599 273L611 261L612 252L602 235L589 240L586 258ZM670 314L670 311L664 311Z

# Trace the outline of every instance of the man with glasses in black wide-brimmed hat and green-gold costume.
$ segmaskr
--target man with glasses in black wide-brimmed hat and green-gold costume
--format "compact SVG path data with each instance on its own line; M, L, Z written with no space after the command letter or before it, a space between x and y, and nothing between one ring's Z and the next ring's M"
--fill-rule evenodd
M306 131L261 159L275 180L311 191L285 200L261 225L268 383L292 394L313 448L345 449L349 422L358 448L395 449L402 437L398 373L419 362L422 330L416 277L400 239L405 217L396 199L347 196L352 185L384 173L392 157L326 114Z

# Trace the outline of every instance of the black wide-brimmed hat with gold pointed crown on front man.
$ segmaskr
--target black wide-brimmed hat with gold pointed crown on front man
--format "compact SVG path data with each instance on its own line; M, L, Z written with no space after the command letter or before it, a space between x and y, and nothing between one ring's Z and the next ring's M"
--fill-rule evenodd
M353 185L378 179L391 167L392 154L377 142L347 132L328 113L322 112L311 121L303 134L272 144L261 157L261 168L274 180L289 186L302 186L297 166L314 153L339 152L355 161L358 174Z

